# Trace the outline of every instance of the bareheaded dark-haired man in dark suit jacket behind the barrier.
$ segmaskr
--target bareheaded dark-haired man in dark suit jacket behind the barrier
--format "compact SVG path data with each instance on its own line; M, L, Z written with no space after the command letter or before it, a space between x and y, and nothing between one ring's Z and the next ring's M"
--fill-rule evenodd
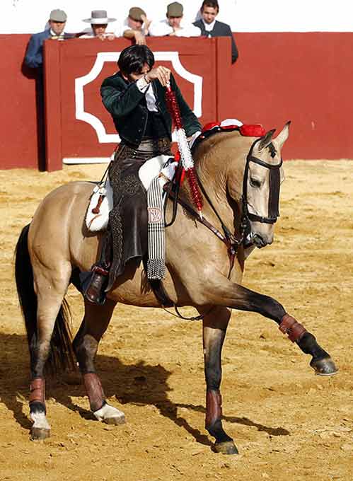
M204 35L204 37L231 37L231 63L233 64L238 58L236 42L230 26L216 21L218 13L219 4L217 0L204 0L201 6L201 19L194 22L194 25L201 29L201 35Z

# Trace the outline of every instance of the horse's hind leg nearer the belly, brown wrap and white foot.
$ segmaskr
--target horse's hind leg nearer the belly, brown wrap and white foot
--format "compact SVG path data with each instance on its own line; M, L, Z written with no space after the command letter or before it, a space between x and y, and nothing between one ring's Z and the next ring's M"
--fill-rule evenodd
M105 401L103 387L94 366L98 343L108 328L115 306L116 302L110 299L106 299L103 306L85 300L85 315L74 339L74 352L79 361L93 415L108 424L123 424L125 415Z

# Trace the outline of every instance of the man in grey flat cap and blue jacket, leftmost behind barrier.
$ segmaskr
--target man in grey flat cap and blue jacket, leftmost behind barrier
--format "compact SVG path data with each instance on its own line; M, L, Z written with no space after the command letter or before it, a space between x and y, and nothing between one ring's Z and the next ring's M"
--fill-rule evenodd
M49 27L44 32L35 33L30 37L27 52L25 54L25 64L32 69L42 67L43 64L43 42L48 38L53 40L64 40L68 37L64 33L67 15L64 11L56 9L50 12L48 21ZM70 36L71 37L71 36Z

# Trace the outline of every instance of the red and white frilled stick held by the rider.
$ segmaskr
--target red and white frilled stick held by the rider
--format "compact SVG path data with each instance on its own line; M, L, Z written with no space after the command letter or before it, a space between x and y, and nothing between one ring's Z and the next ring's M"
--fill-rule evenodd
M203 202L201 192L199 191L199 185L197 183L194 161L192 159L189 144L187 143L178 100L176 99L175 93L170 88L170 83L167 84L166 104L175 124L181 163L185 170L187 181L189 182L192 203L195 205L199 212L199 216L202 218Z

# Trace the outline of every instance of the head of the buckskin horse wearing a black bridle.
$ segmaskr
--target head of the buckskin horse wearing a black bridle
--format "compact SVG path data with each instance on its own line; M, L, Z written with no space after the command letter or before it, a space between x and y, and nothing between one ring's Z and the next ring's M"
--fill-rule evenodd
M289 136L289 124L275 139L272 139L274 130L255 139L250 150L243 142L246 149L243 185L239 182L239 170L232 169L228 175L228 192L241 203L243 211L245 246L262 248L273 242L274 223L279 216L279 186L284 179L281 149Z

